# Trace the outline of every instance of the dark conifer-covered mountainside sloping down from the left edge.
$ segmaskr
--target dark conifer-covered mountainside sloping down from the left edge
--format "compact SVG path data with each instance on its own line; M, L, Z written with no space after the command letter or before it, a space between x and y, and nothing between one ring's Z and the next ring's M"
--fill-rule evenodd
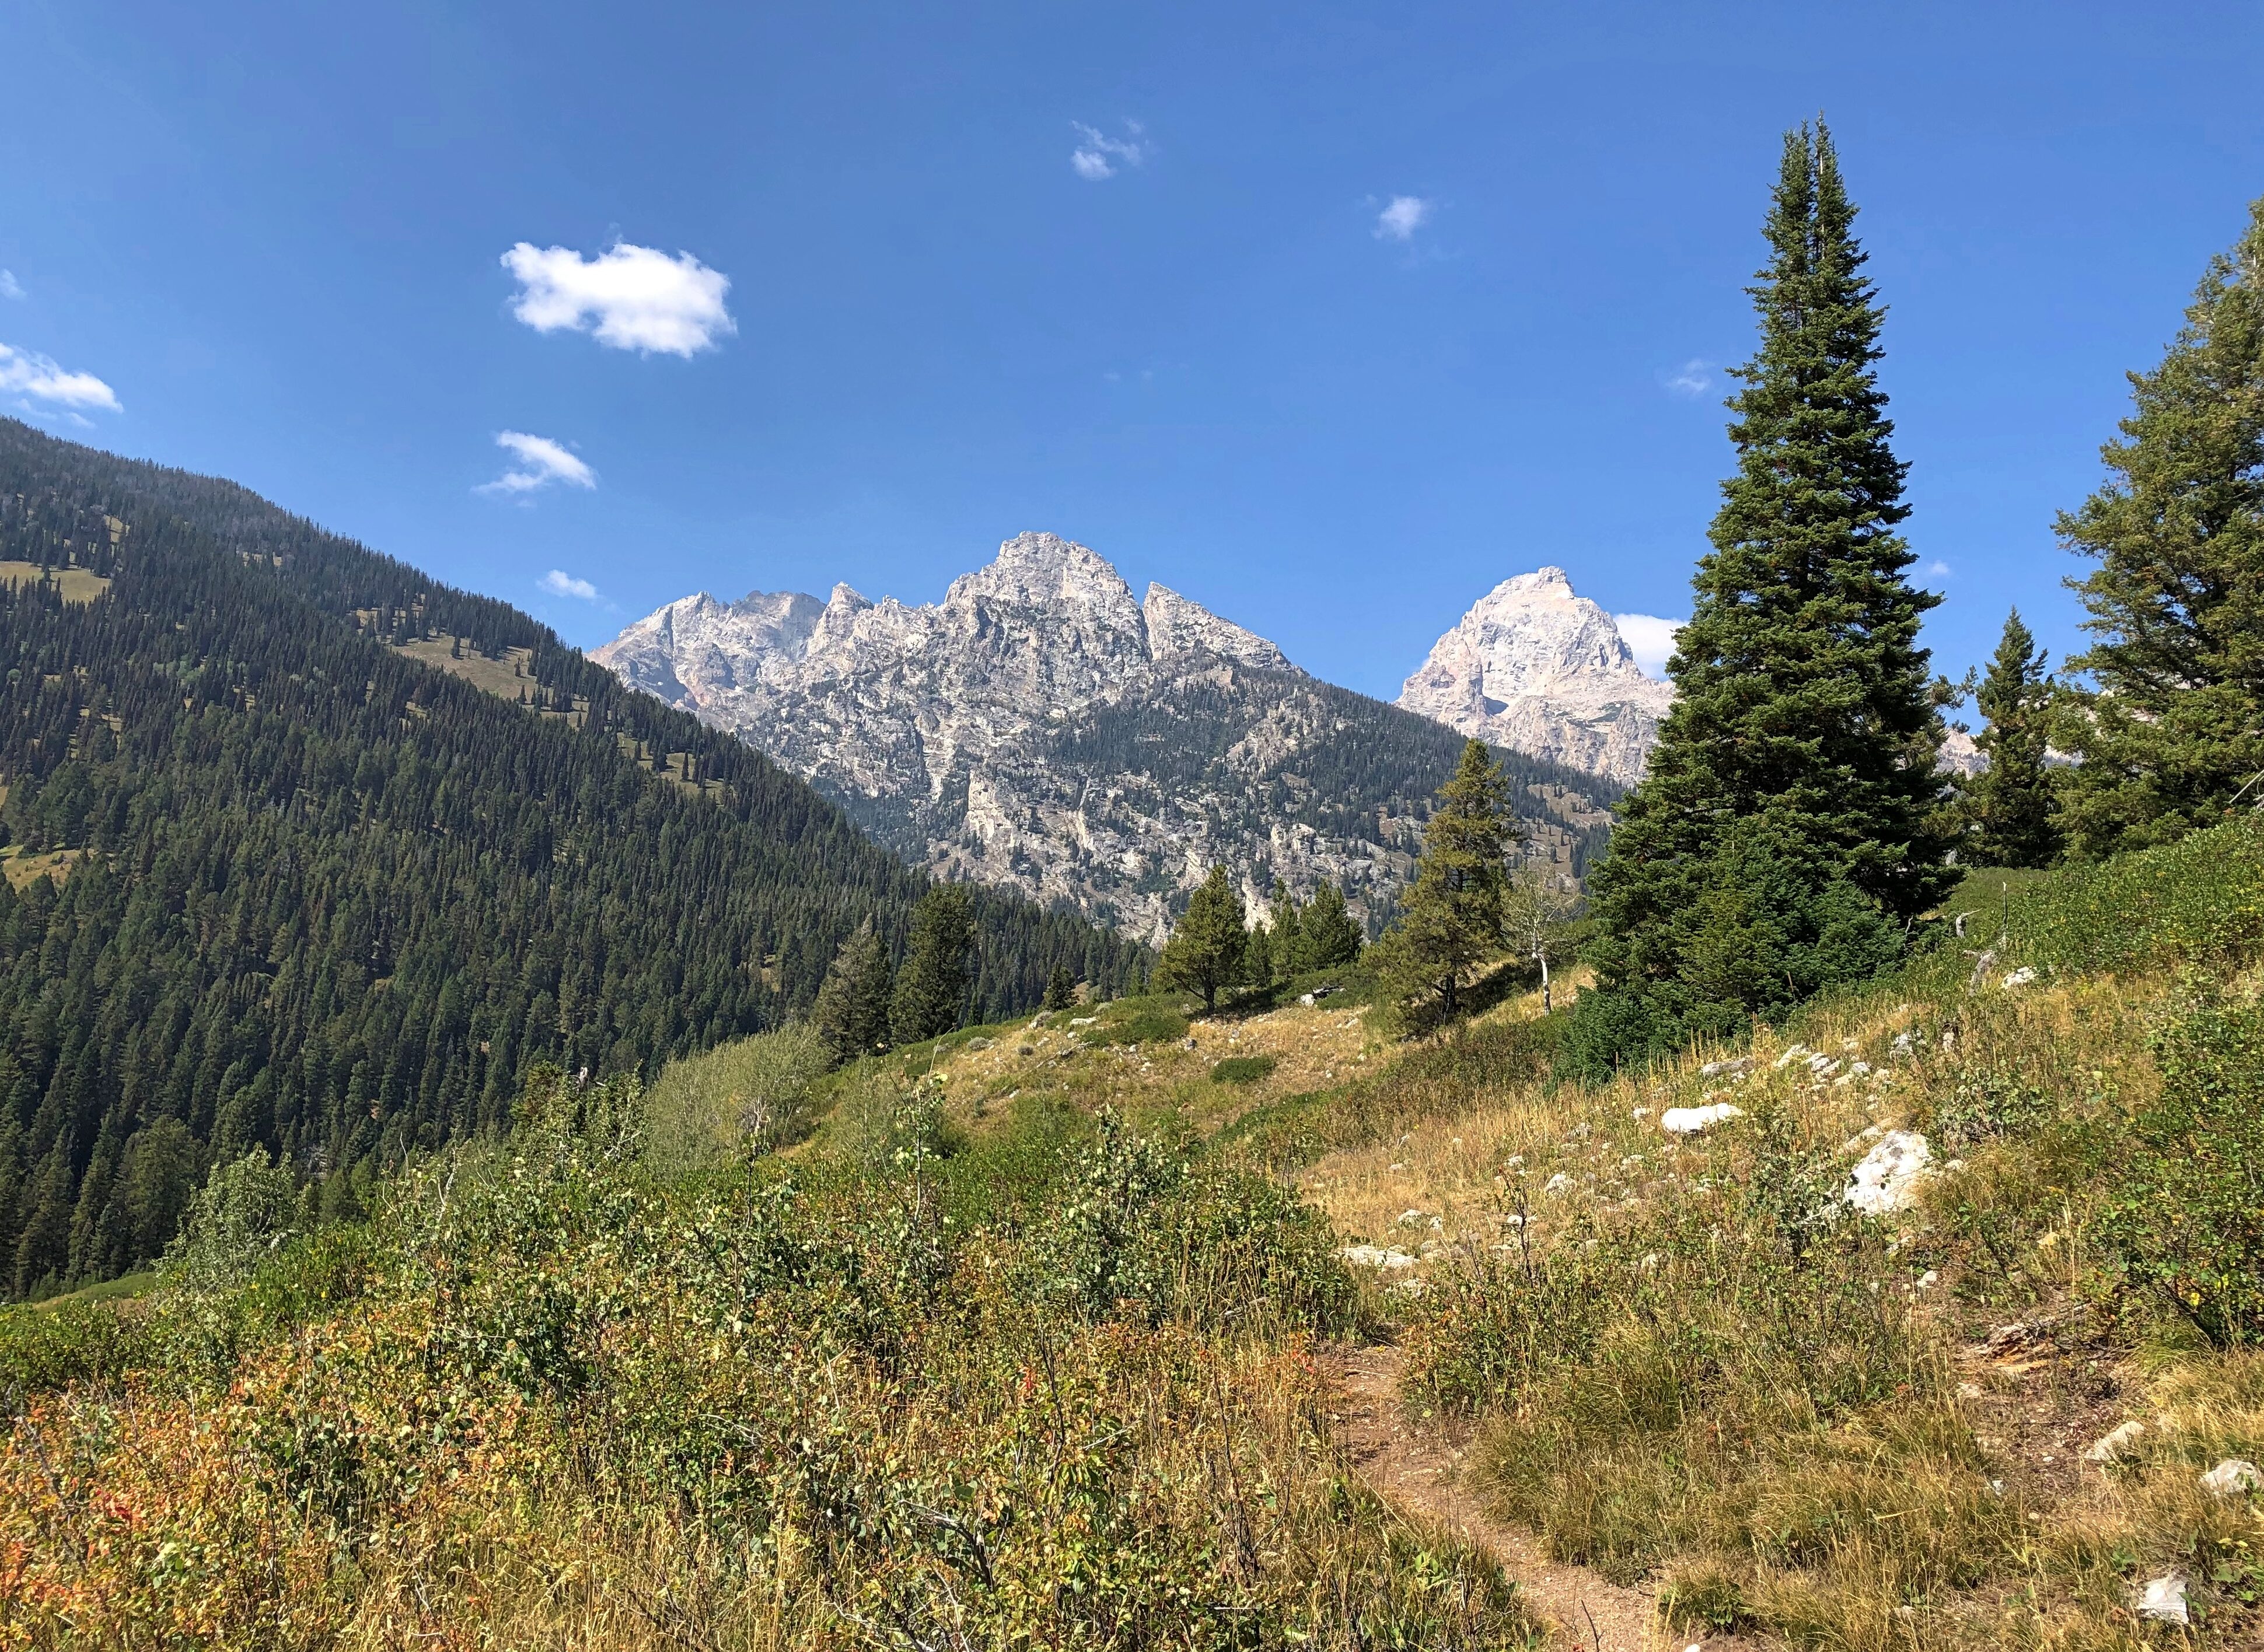
M534 1064L650 1073L901 944L921 880L804 783L240 487L0 421L0 1290L152 1256L251 1145L351 1208ZM978 1014L1137 957L978 932Z

